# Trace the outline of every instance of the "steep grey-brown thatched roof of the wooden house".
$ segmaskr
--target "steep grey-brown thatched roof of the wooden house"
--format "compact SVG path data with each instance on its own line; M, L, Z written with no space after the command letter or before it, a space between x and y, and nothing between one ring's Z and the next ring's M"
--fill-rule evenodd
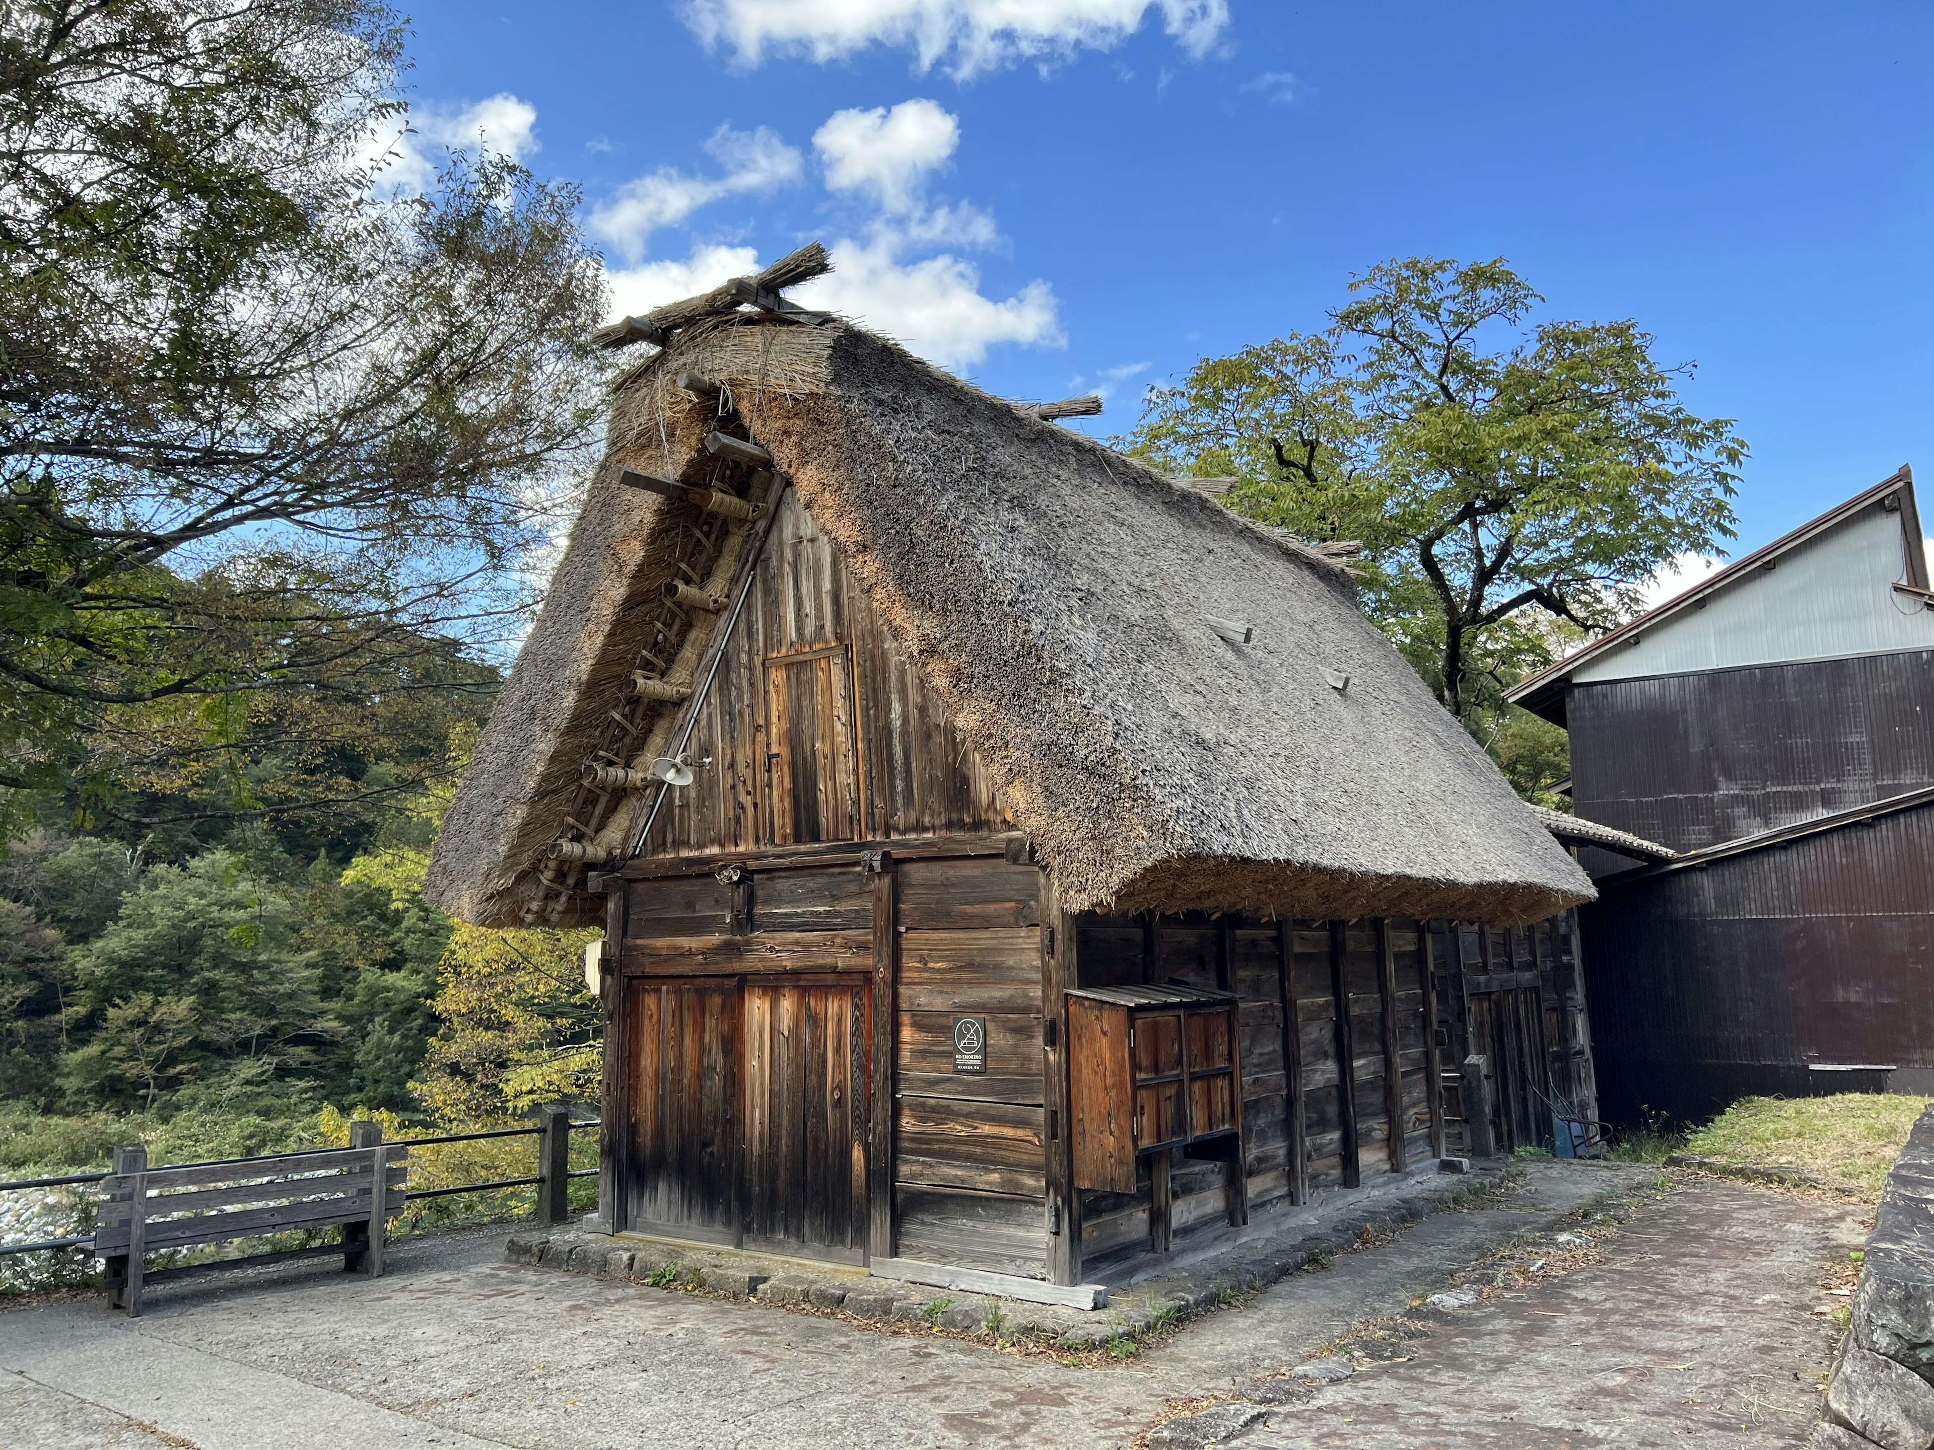
M607 462L437 843L447 911L518 920L632 669L667 514L615 474L698 478L710 412L681 371L727 385L1071 909L1522 922L1592 895L1363 619L1344 565L859 327L733 313L619 391Z

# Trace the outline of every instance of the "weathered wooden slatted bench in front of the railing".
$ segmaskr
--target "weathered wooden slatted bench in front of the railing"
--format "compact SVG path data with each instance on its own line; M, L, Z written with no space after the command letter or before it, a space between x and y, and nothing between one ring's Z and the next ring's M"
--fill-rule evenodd
M149 1168L147 1148L114 1150L101 1179L95 1253L106 1259L110 1305L141 1313L141 1286L205 1268L342 1255L344 1270L383 1272L383 1224L404 1203L408 1146L383 1143L377 1123L352 1123L348 1148ZM379 1172L381 1170L381 1172ZM337 1243L282 1249L213 1264L149 1272L161 1249L251 1239L288 1230L340 1228Z

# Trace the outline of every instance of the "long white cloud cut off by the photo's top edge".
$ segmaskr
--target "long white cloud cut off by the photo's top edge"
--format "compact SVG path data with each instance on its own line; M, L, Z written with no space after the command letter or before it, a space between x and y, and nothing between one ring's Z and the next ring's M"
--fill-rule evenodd
M905 46L921 72L946 62L965 79L1023 60L1108 50L1151 10L1191 56L1228 27L1228 0L685 0L685 23L708 48L758 66L768 54L845 60L866 46Z

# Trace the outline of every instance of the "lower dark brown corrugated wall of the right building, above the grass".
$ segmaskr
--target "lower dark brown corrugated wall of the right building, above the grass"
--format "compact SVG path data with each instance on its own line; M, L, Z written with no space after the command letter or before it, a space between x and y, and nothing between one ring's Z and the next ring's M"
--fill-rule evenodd
M1934 804L1601 884L1578 909L1601 1112L1934 1077Z

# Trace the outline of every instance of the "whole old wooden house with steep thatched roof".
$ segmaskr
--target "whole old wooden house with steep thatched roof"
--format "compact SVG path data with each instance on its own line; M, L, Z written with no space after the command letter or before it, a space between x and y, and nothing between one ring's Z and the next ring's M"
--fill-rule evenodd
M1476 1040L1423 918L1588 880L1342 565L789 307L814 253L613 329L659 352L431 864L605 924L605 1222L1093 1303L1420 1172ZM1561 942L1464 936L1549 1137Z

